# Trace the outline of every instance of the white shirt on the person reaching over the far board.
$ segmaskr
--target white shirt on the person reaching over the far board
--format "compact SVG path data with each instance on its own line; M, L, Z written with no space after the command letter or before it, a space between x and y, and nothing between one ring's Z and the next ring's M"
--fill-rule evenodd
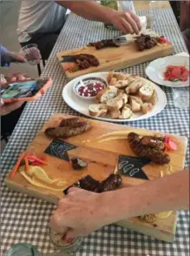
M56 32L64 23L65 14L66 9L52 0L23 0L18 17L18 41L28 42L35 33Z

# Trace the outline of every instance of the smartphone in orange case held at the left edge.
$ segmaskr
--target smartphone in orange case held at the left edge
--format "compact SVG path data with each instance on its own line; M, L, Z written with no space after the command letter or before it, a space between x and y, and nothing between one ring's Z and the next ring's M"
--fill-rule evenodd
M35 101L40 98L51 85L52 79L50 77L7 84L7 87L1 90L1 98L4 103Z

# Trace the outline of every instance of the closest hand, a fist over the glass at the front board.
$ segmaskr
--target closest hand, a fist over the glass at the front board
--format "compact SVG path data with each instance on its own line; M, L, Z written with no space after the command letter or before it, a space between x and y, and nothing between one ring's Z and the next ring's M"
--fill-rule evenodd
M114 222L112 212L107 208L108 194L70 188L68 195L59 201L49 226L56 232L66 234L66 241L69 242Z

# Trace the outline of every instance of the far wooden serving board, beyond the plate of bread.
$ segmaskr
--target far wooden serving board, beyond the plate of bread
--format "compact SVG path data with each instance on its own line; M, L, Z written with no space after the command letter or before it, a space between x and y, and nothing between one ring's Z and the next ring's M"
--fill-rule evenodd
M66 77L68 80L71 80L75 77L82 76L84 74L98 72L98 71L118 71L124 68L134 66L136 64L141 64L147 61L154 60L158 57L165 57L174 52L174 47L171 45L167 46L158 46L154 48L138 51L136 45L128 44L121 45L119 48L104 48L102 50L96 50L95 47L84 46L82 48L77 48L70 51L62 51L56 54L60 64L62 65L62 70L68 66L68 63L61 63L62 56L76 55L76 54L91 54L97 57L100 62L100 65L97 67L89 67L82 71L69 72L65 71Z

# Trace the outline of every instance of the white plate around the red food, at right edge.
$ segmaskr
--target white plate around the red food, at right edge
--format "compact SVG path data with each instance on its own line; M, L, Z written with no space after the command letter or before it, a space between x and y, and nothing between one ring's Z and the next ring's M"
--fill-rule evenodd
M165 85L168 87L187 87L189 86L189 79L186 82L171 82L164 80L164 72L168 65L186 66L189 71L189 57L169 56L161 57L152 61L146 69L146 74L156 84Z

